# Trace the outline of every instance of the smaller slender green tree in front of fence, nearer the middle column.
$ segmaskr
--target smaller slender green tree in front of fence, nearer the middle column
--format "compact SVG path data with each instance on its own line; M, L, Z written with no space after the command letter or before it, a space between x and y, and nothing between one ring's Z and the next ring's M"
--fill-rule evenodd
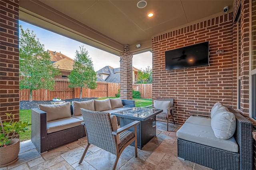
M82 98L82 88L95 89L96 72L93 69L91 58L89 58L88 51L84 46L80 47L80 51L76 50L76 58L74 59L73 69L69 76L70 85L69 88L80 87L80 98Z

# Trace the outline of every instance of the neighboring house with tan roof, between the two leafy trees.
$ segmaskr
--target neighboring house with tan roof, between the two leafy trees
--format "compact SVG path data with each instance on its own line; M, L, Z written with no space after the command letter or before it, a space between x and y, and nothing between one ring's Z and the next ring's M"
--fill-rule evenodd
M56 76L55 78L68 78L72 68L73 68L73 59L70 59L66 55L57 53L56 51L47 50L50 55L50 60L54 63L55 66L58 66L61 75Z

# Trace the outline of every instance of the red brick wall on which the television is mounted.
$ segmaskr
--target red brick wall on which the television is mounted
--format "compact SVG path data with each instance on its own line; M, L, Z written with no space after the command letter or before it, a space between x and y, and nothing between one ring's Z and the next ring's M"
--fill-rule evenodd
M209 41L210 66L165 70L165 51ZM223 49L223 54L216 50ZM210 111L215 102L232 105L232 13L152 38L152 99L174 98L174 120L192 110Z

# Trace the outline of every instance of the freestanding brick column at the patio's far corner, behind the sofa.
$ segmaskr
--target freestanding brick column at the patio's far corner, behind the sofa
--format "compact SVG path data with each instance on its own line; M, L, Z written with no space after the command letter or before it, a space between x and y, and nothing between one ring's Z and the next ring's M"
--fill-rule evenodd
M132 100L132 54L128 45L120 54L120 97Z

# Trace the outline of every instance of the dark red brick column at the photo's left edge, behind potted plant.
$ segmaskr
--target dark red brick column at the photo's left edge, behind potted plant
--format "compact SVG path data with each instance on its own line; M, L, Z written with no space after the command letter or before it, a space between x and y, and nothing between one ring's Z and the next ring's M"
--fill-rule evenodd
M0 116L19 119L19 0L0 0Z

